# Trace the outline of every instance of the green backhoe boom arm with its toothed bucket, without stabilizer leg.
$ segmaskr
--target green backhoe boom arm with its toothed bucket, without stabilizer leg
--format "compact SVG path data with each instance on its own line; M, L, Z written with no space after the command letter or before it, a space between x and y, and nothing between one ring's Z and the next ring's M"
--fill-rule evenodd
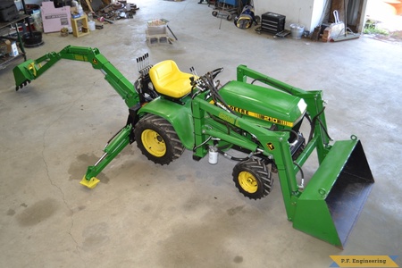
M61 59L91 63L94 69L105 74L105 80L123 98L129 108L138 104L139 96L133 84L97 48L91 47L66 46L58 53L51 52L35 61L28 60L21 63L13 69L15 89L19 90L27 86L31 80L36 80Z

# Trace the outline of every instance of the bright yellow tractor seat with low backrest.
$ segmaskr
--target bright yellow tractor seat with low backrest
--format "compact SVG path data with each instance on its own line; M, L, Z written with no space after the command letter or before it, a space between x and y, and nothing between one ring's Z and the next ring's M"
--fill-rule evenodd
M157 93L172 98L181 98L191 91L191 73L182 72L172 60L156 63L149 70L149 77Z

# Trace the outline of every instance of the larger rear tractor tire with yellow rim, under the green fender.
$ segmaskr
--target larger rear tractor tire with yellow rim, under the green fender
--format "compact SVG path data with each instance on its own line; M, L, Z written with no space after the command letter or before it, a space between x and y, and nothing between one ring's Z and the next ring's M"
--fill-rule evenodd
M169 164L183 154L184 147L172 124L155 114L147 114L134 128L137 147L149 160Z

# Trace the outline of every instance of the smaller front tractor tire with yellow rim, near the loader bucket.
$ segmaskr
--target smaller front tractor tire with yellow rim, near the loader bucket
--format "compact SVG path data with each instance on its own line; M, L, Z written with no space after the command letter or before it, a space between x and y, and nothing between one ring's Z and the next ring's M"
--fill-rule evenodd
M236 188L245 197L260 199L271 192L272 172L258 158L250 158L236 164L232 175Z

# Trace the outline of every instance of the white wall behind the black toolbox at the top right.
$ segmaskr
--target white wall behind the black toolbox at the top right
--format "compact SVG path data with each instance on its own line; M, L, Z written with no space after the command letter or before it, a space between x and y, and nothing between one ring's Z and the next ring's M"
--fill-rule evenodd
M272 12L286 16L286 29L291 23L299 23L306 30L312 30L320 24L325 0L254 0L255 13L259 16Z

